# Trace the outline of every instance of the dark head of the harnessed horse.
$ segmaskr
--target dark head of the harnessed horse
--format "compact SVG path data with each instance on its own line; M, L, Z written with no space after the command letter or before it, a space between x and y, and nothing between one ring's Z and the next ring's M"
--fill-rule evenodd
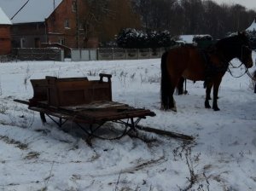
M236 49L237 58L245 65L245 67L253 67L252 49L246 32L238 32L236 36L236 44L234 49Z

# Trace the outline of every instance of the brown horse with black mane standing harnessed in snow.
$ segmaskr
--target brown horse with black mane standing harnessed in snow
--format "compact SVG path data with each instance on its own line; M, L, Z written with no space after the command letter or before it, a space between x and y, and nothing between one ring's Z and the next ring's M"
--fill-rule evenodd
M212 108L218 111L218 87L232 59L238 58L245 67L253 67L252 49L245 32L218 40L209 49L181 46L170 49L161 57L161 108L176 111L173 93L181 78L205 81L206 100L209 104L213 86Z

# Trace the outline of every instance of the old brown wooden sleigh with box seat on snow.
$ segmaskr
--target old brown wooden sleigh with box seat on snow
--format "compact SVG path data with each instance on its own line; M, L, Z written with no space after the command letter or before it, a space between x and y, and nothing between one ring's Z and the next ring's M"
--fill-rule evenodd
M187 140L193 139L191 136L138 125L141 119L154 117L155 113L148 109L135 108L113 101L112 76L103 73L99 76L99 80L49 76L43 79L32 79L32 99L15 101L26 104L29 109L39 112L43 123L46 122L45 116L48 116L59 127L62 127L67 121L77 124L89 136L89 139L93 136L103 138L97 136L96 131L101 130L107 122L124 126L122 133L115 136L115 139L137 129ZM84 124L86 125L84 126Z

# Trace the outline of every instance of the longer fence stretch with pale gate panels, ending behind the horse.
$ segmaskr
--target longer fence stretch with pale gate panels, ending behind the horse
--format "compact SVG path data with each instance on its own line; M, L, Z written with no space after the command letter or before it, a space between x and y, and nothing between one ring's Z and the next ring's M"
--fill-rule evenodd
M165 49L72 49L71 61L110 61L160 58Z

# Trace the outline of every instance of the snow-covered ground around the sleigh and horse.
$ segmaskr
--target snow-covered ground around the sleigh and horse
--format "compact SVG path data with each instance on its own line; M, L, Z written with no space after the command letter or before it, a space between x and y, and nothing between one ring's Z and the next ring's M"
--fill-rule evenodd
M236 76L244 72L242 67L231 71ZM195 142L139 131L146 140L95 138L90 147L74 124L64 126L68 132L49 119L43 125L38 113L13 101L32 97L31 78L91 80L99 79L99 72L113 74L113 101L156 113L140 124L195 136ZM219 112L204 108L202 82L188 81L187 89L189 95L175 96L177 113L160 110L160 59L1 63L0 189L255 190L256 94L251 79L225 74ZM105 128L118 126L109 123ZM195 183L189 188L191 175Z

